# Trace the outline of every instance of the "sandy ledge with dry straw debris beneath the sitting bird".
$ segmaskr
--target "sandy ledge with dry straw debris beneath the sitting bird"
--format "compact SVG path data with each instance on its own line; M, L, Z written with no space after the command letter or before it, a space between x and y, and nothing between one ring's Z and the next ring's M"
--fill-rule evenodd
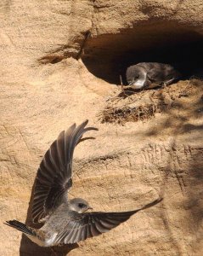
M124 125L127 122L147 121L155 117L155 113L169 113L172 118L172 111L178 109L184 112L188 104L182 101L194 102L193 97L200 97L200 109L203 109L202 92L203 81L191 79L180 81L178 84L161 88L160 90L144 90L139 93L121 98L112 97L106 108L99 113L101 123L116 123ZM190 102L191 104L191 102ZM201 111L203 114L203 110Z

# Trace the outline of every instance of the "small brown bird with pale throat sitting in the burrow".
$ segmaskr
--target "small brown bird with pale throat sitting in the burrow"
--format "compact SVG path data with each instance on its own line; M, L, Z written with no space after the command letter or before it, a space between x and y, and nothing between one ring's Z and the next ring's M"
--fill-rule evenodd
M182 75L169 64L157 62L141 62L127 67L127 83L134 89L154 88L172 84Z

